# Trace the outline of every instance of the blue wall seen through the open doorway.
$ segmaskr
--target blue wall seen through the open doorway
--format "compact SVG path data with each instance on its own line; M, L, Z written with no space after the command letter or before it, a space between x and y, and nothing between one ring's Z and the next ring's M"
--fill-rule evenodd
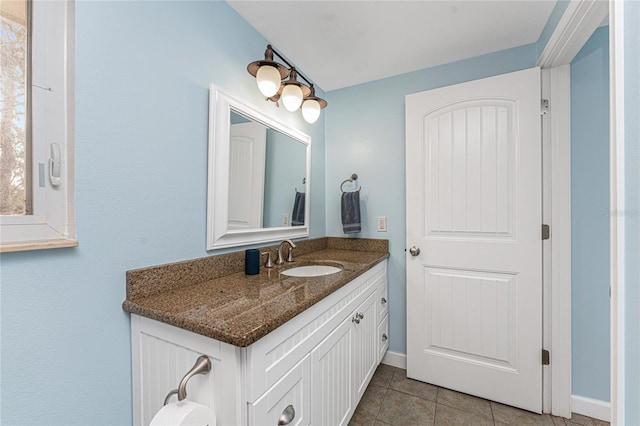
M609 401L609 27L571 63L572 393Z

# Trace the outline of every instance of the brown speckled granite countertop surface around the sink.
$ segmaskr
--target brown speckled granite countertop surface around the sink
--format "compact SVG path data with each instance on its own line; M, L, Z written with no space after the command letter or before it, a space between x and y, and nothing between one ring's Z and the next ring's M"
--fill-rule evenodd
M389 257L386 244L385 251L379 250L380 245L377 251L349 250L342 247L341 239L334 240L337 243L296 256L293 263L270 269L261 266L258 275L234 272L155 294L130 290L128 275L122 306L128 312L222 342L249 346ZM343 270L319 277L280 274L281 268L322 262Z

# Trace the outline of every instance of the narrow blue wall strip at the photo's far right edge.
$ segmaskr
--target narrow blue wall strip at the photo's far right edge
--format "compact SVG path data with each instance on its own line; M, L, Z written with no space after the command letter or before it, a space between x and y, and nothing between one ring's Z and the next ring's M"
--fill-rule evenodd
M640 425L640 2L625 1L626 422Z

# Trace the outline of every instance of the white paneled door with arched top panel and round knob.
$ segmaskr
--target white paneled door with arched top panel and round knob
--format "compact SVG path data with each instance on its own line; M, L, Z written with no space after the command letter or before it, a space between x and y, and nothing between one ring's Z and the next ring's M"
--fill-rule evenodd
M406 98L407 375L542 411L540 70Z

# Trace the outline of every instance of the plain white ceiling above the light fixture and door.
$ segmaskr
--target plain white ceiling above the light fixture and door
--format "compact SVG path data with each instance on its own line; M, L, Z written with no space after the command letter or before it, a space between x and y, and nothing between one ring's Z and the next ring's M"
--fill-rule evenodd
M325 91L534 43L555 6L555 0L227 2ZM263 54L256 52L256 60Z

